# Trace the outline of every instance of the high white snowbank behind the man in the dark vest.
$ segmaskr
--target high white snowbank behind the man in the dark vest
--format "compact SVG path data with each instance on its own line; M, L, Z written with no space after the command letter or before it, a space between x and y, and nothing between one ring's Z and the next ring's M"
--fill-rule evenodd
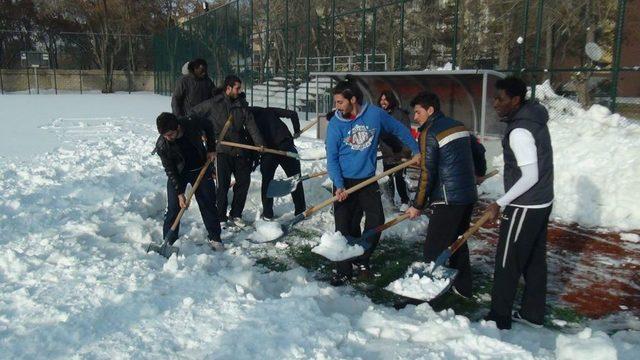
M640 229L640 123L600 105L585 110L556 95L549 82L536 88L536 98L550 117L552 216L589 227ZM494 158L494 167L503 164L502 155ZM502 181L495 176L480 189L498 198L504 193Z

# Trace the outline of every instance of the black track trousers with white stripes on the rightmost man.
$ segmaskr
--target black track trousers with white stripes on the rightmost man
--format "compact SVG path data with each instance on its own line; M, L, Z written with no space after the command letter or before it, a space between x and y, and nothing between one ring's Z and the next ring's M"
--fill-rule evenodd
M507 322L511 321L520 276L525 282L520 314L531 322L544 322L549 215L551 206L542 209L507 206L502 214L491 312Z

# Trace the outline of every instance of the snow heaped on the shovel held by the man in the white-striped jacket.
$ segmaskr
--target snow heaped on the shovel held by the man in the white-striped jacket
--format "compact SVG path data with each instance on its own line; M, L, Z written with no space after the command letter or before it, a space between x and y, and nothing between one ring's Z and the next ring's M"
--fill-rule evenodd
M451 283L451 278L444 276L442 267L436 269L433 277L426 276L425 274L431 273L433 266L433 262L415 262L402 278L393 281L385 289L408 298L429 301L440 295Z

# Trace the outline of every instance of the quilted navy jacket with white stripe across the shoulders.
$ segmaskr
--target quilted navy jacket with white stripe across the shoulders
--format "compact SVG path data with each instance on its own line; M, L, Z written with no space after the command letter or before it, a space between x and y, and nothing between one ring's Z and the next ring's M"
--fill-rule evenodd
M473 204L478 199L470 133L438 112L420 127L420 179L413 206Z

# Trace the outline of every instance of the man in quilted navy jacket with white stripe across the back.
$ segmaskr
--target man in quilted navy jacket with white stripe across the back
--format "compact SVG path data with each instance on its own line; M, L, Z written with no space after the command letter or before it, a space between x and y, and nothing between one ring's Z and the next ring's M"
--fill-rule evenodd
M440 100L429 92L412 101L414 119L420 124L420 179L410 218L426 207L433 210L424 244L425 261L434 261L468 228L478 200L470 133L465 126L440 112ZM471 297L469 247L465 243L450 258L458 270L453 283L457 294Z

